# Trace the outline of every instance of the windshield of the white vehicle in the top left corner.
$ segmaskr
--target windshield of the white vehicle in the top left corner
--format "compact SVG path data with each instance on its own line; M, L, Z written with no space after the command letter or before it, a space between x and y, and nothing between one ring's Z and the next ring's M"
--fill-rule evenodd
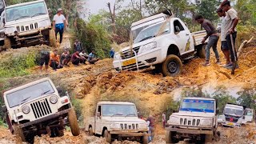
M37 2L25 6L6 8L6 22L22 18L32 18L38 15L47 14L44 2Z

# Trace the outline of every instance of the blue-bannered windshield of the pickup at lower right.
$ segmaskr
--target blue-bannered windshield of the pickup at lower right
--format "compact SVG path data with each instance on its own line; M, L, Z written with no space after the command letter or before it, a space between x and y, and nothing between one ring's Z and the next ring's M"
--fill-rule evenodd
M180 111L214 113L214 101L183 99Z

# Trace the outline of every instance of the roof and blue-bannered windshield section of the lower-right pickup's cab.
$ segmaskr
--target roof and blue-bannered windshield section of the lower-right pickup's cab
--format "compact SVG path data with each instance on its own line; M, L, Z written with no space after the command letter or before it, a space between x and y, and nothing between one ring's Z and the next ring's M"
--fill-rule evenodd
M218 114L214 98L183 98L179 111Z

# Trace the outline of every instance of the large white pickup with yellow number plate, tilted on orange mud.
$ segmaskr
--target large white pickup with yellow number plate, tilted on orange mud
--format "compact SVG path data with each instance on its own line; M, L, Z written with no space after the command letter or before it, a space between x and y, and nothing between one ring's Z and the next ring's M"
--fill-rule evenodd
M165 20L157 18L158 22L140 31L132 46L114 54L116 70L155 66L164 76L176 76L182 73L182 61L195 56L205 58L205 45L202 44L205 30L190 33L181 19L168 15L163 18Z

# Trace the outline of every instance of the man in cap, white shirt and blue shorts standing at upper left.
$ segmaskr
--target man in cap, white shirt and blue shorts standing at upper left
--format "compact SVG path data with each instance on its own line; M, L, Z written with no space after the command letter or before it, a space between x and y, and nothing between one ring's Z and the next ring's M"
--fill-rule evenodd
M59 43L62 43L65 24L66 26L69 26L68 22L66 21L66 18L62 13L63 13L62 9L58 9L58 13L54 15L54 23L53 23L56 39L57 39L57 34L59 33L60 35Z

